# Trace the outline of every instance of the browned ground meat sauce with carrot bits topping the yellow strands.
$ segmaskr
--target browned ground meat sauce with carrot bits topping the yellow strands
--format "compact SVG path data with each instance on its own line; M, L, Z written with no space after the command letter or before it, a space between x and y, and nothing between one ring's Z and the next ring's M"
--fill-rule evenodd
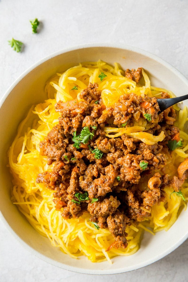
M138 82L141 68L126 70L125 76ZM126 248L126 225L149 217L151 206L164 200L163 188L170 181L173 186L182 184L183 177L169 180L162 173L169 150L165 144L179 133L174 126L176 113L170 107L158 115L155 97L143 98L134 93L121 96L113 108L106 108L97 83L89 83L79 97L83 99L81 102L56 103L55 109L61 113L59 124L40 143L41 155L47 156L48 165L53 163L54 167L52 171L39 173L36 182L44 183L53 191L53 201L57 210L63 208L63 218L78 218L89 211L90 221L96 222L99 228L108 227L115 241L107 251L112 247ZM167 93L162 94L162 98L167 97ZM118 138L105 136L104 127L108 124L132 126L147 113L151 114L148 122L151 127L146 132L159 135L164 131L163 142L146 145L126 134ZM83 127L88 127L92 139L86 144L79 143L76 148L73 134L76 131L79 135ZM100 158L95 158L92 152L96 148L101 151ZM145 170L140 167L142 161L148 162ZM143 179L147 180L147 187ZM87 193L89 199L78 201L75 193ZM98 200L92 202L92 199Z

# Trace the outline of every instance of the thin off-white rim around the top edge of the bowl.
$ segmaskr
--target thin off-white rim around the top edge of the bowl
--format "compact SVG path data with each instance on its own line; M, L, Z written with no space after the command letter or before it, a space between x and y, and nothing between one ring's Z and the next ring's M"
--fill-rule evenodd
M45 56L44 58L40 59L39 61L37 61L36 63L31 65L7 89L7 91L5 92L5 94L3 95L3 97L0 100L0 109L3 106L3 103L5 102L6 98L10 94L10 92L33 69L35 69L39 65L43 64L45 61L48 61L48 60L50 60L50 59L52 59L56 56L59 56L63 53L70 52L70 51L76 51L76 50L80 50L80 49L92 48L92 47L93 48L99 47L99 48L122 49L122 50L133 51L135 53L144 55L144 56L146 56L146 57L148 57L148 58L150 58L154 61L157 61L158 63L167 67L168 69L170 69L171 72L173 72L176 76L178 76L188 86L188 79L179 70L177 70L170 63L166 62L165 60L161 59L160 57L152 54L151 52L145 51L145 50L137 48L137 47L132 47L132 46L125 45L125 44L120 44L120 43L118 43L118 44L114 44L114 43L85 43L85 44L80 44L80 45L77 45L77 46L67 47L67 48L58 50L56 52L53 52L52 54ZM170 248L168 248L167 250L162 252L160 255L156 255L155 257L152 257L152 259L147 259L146 261L138 263L134 266L124 267L124 268L116 268L116 269L107 269L107 270L105 270L105 269L98 269L98 270L96 270L96 269L85 269L85 268L79 268L79 267L76 267L76 266L69 266L69 265L66 265L65 263L59 263L57 261L55 262L53 259L50 259L49 257L47 257L45 255L42 255L41 253L34 250L34 248L29 246L27 243L25 243L21 239L21 237L19 237L19 235L17 235L17 233L12 229L12 227L6 221L5 217L1 213L1 210L0 210L0 219L3 222L3 224L6 226L7 230L14 236L14 238L20 244L22 244L23 247L26 250L28 250L32 255L35 255L39 259L42 259L43 261L50 263L51 265L54 265L54 266L57 266L59 268L63 268L65 270L69 270L69 271L72 271L72 272L81 273L81 274L110 275L110 274L125 273L125 272L129 272L129 271L132 271L132 270L142 268L142 267L150 265L150 264L158 261L159 259L162 259L166 255L170 254L173 250L175 250L178 246L180 246L188 238L188 231L187 231L187 233L185 233L174 245L172 245Z

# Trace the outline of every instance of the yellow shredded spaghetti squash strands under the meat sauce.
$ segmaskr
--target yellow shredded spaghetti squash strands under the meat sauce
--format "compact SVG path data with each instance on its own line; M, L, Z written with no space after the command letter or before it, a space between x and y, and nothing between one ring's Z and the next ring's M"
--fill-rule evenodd
M53 246L59 247L62 252L73 258L86 255L92 262L107 259L111 263L110 258L116 255L134 254L139 248L143 230L153 235L160 230L168 230L176 221L180 206L186 207L179 195L175 193L171 195L173 192L171 187L165 188L166 200L160 202L159 205L152 206L151 217L138 225L127 226L128 247L118 250L112 248L106 252L105 250L114 242L108 229L96 229L89 221L90 214L87 212L78 219L63 219L61 212L55 209L55 204L52 202L53 191L42 183L36 183L38 173L53 167L53 164L47 165L47 157L40 155L39 142L47 136L54 125L58 124L60 113L56 113L54 105L59 100L66 102L77 97L80 101L79 94L87 88L89 82L98 83L103 103L112 107L124 93L134 92L138 96L146 94L157 97L161 92L168 92L171 97L174 96L168 90L152 87L144 71L145 83L139 85L126 78L117 63L114 65L115 67L112 67L99 60L98 62L80 63L63 74L57 73L47 82L45 91L48 99L30 109L26 118L19 125L17 136L9 150L9 165L14 177L12 190L14 204L18 206L37 232L48 237ZM99 78L101 72L106 75L102 81ZM184 132L184 124L188 120L187 108L180 110L177 105L174 108L177 110L175 125L180 128L183 147L175 149L168 157L165 171L168 175L174 175L178 165L188 157L188 134ZM163 131L159 136L153 136L144 132L147 129L147 121L143 119L140 124L132 127L105 127L105 133L111 138L126 133L149 145L164 139ZM147 183L142 182L142 184L147 187ZM187 180L181 191L188 200Z

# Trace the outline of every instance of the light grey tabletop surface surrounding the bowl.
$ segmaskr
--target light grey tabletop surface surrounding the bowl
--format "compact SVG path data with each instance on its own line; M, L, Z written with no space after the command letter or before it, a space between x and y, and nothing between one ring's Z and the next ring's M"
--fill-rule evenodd
M65 47L122 43L147 50L188 78L187 0L0 0L0 98L33 63ZM42 22L32 34L29 20ZM16 53L7 40L24 42ZM181 90L181 89L180 89ZM187 224L187 223L185 223ZM76 274L34 257L0 222L0 281L188 281L188 240L174 252L125 274Z

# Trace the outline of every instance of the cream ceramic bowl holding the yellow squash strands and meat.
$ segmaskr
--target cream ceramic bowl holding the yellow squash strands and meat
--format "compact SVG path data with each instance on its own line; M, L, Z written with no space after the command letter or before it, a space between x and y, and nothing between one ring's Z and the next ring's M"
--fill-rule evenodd
M83 45L47 56L26 70L0 102L0 209L1 218L8 230L33 255L66 270L86 274L115 274L149 265L182 244L188 237L188 209L180 213L178 220L168 232L158 232L155 236L145 232L140 249L134 255L114 257L112 265L107 261L92 263L86 257L76 260L52 247L50 241L39 235L16 205L12 204L10 201L12 176L6 167L7 151L16 135L17 126L32 104L45 100L44 86L47 79L55 72L62 72L79 62L99 59L110 64L118 62L123 69L143 67L149 74L152 85L170 89L176 96L187 94L188 81L178 70L162 59L133 47Z

